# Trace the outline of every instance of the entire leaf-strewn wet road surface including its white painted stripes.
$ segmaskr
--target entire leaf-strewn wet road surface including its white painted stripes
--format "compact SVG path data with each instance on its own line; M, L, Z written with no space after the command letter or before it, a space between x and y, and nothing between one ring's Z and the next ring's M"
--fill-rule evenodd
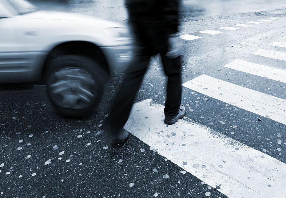
M34 2L127 19L122 1ZM44 86L0 86L0 197L286 196L286 2L183 3L186 117L162 121L166 77L158 56L124 144L97 134L121 73L106 84L102 101L110 103L81 120L57 115Z

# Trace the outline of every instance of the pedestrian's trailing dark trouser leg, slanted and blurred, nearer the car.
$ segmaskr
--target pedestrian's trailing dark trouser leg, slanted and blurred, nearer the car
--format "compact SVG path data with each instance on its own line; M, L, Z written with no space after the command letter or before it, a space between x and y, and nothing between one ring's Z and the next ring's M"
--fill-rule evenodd
M119 135L128 120L133 101L140 88L150 58L150 55L138 54L126 70L121 88L115 98L113 109L103 125L104 130L115 136Z

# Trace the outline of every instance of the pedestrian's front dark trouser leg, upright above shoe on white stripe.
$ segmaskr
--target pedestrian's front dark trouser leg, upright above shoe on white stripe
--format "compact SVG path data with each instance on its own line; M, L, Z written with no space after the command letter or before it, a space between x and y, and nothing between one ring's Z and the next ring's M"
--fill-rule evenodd
M168 76L167 100L165 102L165 115L174 116L178 114L182 97L181 82L181 57L169 59L166 51L160 53L165 74Z

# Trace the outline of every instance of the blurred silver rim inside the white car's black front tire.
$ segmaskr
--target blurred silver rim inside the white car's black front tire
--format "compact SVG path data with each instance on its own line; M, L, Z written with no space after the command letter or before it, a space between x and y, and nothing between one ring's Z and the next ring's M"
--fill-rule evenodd
M80 68L63 68L49 78L51 99L64 108L88 107L96 97L91 91L96 86L92 76Z

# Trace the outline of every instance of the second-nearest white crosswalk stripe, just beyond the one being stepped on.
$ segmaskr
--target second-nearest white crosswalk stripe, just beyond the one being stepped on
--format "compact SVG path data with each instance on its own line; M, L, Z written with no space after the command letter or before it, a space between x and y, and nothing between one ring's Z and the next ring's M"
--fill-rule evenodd
M207 75L190 80L183 86L286 125L286 100L281 98Z

